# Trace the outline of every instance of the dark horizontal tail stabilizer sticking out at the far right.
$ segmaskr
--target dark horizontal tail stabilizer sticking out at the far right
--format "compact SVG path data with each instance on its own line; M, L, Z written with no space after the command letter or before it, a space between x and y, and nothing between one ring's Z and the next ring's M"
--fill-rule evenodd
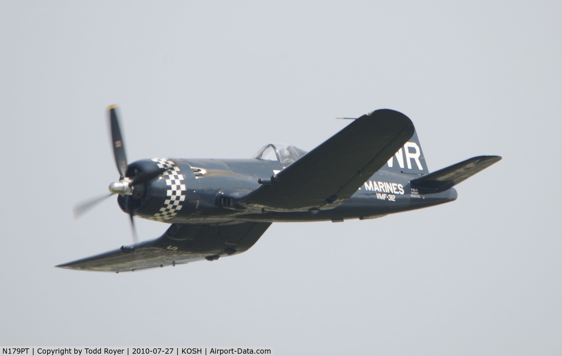
M478 156L466 159L466 161L443 168L418 179L410 181L412 186L422 189L446 190L459 184L465 179L472 177L484 168L490 167L500 156Z

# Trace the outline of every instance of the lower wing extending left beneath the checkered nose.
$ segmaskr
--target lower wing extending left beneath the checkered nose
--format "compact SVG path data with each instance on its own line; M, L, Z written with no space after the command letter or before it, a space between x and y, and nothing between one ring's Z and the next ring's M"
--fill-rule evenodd
M163 267L238 254L251 248L270 222L233 225L173 224L160 238L102 253L56 267L72 270L123 272Z

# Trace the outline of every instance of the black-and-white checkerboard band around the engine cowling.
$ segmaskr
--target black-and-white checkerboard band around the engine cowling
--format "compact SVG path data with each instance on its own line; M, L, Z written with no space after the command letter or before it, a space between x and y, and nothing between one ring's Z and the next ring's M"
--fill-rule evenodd
M178 214L176 211L182 209L182 202L185 200L185 194L183 193L185 191L185 184L182 184L184 176L179 173L179 167L170 159L152 158L152 161L157 162L158 168L170 168L162 175L170 189L167 190L167 199L164 202L164 206L160 208L160 212L151 216L150 219L157 221L170 220Z

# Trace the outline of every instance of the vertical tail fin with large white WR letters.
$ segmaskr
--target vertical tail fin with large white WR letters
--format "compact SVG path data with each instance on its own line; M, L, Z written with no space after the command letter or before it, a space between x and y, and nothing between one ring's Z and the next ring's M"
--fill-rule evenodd
M395 173L428 174L429 171L423 156L422 145L420 145L418 139L418 133L414 131L414 136L380 169Z

